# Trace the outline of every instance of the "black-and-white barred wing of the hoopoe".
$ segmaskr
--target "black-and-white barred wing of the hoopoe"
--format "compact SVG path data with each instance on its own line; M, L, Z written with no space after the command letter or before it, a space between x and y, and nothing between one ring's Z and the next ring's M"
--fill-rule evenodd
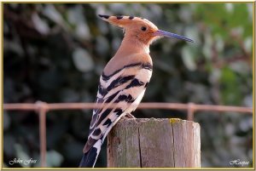
M137 108L151 75L152 65L148 63L124 66L110 76L102 74L96 103L105 106L93 111L84 153L89 151L97 140L103 141L121 117ZM108 106L113 104L116 105L108 109Z

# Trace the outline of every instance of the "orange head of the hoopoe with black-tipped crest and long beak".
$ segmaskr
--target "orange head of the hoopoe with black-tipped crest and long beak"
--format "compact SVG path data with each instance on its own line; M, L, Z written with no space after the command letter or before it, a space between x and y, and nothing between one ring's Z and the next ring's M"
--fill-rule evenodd
M133 16L109 16L99 14L102 20L108 21L113 26L119 26L125 30L125 38L140 41L141 43L149 45L154 40L160 37L175 37L188 42L193 40L177 35L172 32L161 31L149 20L133 17Z

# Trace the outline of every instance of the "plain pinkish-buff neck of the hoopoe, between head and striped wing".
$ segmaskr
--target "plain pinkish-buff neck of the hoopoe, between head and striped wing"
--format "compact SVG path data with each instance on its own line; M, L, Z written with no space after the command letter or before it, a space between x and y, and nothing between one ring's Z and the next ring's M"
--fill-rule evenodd
M114 57L124 57L131 54L149 54L149 44L141 43L135 38L124 37Z

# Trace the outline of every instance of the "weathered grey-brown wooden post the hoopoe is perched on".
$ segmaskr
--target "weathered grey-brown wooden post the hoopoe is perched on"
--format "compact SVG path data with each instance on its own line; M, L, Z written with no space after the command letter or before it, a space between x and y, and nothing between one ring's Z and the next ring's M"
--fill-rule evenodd
M200 168L200 125L180 119L121 119L108 134L109 168Z

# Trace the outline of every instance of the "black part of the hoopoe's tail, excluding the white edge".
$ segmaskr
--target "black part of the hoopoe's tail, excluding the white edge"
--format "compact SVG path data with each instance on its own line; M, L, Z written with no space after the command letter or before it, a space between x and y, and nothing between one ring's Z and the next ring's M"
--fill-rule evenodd
M79 168L93 168L97 158L96 147L91 147L89 151L84 153L84 156L79 164Z

